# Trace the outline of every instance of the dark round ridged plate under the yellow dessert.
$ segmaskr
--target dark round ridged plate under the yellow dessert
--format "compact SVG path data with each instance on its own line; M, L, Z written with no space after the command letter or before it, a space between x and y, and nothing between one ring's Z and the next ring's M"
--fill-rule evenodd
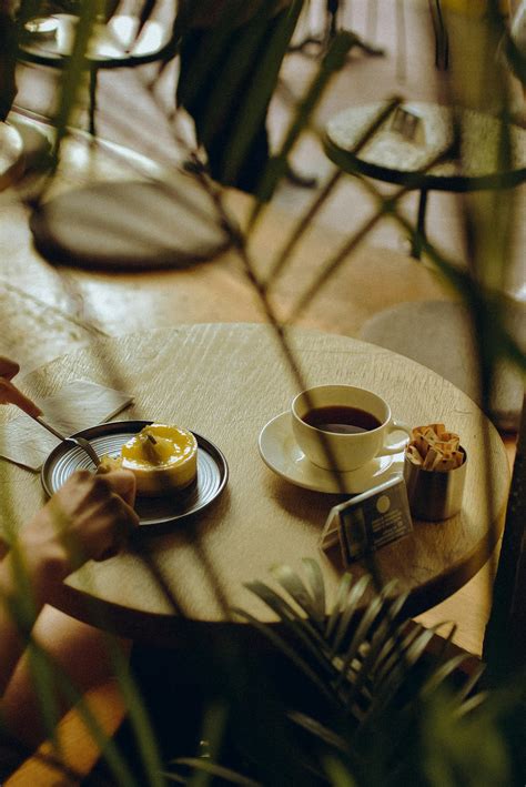
M77 432L73 436L89 440L102 456L117 456L122 445L153 421L112 421ZM229 465L221 451L210 441L193 433L198 441L198 478L176 495L139 497L135 511L143 527L163 527L180 523L206 508L224 490ZM94 470L88 454L74 443L60 443L48 456L41 472L42 486L54 494L78 470Z

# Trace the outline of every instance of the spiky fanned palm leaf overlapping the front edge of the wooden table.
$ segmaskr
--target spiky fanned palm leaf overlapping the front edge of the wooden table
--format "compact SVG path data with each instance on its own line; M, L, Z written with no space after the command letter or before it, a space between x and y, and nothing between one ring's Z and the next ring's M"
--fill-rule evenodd
M277 615L285 630L295 635L295 642L304 648L301 655L291 642L285 642L272 625L261 624L242 612L244 619L255 625L275 646L282 649L315 685L336 699L340 707L354 718L354 724L363 728L373 728L380 723L381 714L392 707L392 700L398 696L401 688L414 675L414 667L426 652L427 645L443 624L432 629L421 625L412 625L407 630L407 622L399 619L406 604L406 594L394 595L396 583L388 583L381 594L375 595L362 609L361 601L368 586L370 578L361 577L352 583L350 574L345 574L340 583L336 601L332 611L325 616L325 625L320 627L320 606L313 604L313 598L325 597L321 585L323 575L313 568L315 591L312 593L295 572L286 566L274 567L280 585L294 599L299 608L264 583L251 583L249 589L254 592ZM311 616L311 620L308 620ZM454 627L448 637L453 637ZM447 639L444 648L447 648ZM308 662L304 656L308 656ZM445 652L443 654L445 657ZM413 686L408 697L422 700L457 670L465 657L439 659L438 667L422 678L422 686ZM427 669L429 673L429 669ZM452 698L452 707L459 707L465 697L476 685L478 675L465 682L461 690ZM334 693L334 694L333 694ZM409 700L407 700L409 702ZM411 707L411 706L408 706ZM401 713L403 713L401 710ZM402 717L401 717L402 719ZM412 716L402 723L411 725Z

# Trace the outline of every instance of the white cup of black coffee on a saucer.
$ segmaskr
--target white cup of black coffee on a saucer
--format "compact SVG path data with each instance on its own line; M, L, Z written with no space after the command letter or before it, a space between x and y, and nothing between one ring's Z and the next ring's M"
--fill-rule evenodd
M341 428L347 431L333 431L332 416L332 423L343 421ZM385 400L354 385L317 385L297 394L292 402L292 427L311 462L338 472L357 470L375 456L396 454L411 437L409 426L393 418ZM405 432L404 438L386 444L396 431Z

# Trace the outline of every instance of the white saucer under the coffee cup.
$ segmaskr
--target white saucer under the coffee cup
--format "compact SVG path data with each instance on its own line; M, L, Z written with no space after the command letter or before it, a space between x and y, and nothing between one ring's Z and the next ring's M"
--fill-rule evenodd
M260 434L261 458L270 470L296 486L314 492L352 495L366 492L388 477L402 475L404 452L371 460L358 470L332 473L314 465L297 445L292 433L291 413L269 421Z

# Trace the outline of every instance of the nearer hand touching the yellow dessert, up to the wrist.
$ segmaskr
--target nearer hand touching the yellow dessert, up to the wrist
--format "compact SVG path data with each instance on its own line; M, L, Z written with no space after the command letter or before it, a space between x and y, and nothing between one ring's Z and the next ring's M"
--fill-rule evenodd
M130 471L74 473L20 533L20 546L36 599L50 597L89 559L115 555L139 524Z

